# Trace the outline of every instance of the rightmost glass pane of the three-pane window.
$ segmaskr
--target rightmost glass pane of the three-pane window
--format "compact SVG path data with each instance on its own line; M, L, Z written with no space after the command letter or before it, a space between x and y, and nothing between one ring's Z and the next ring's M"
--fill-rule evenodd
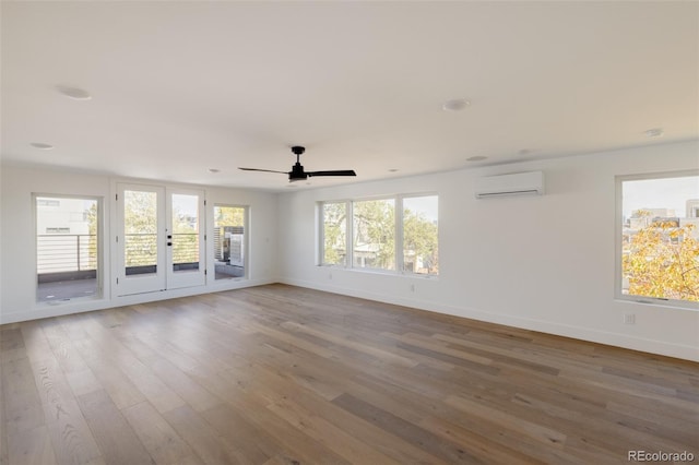
M437 195L403 199L403 271L439 274Z

